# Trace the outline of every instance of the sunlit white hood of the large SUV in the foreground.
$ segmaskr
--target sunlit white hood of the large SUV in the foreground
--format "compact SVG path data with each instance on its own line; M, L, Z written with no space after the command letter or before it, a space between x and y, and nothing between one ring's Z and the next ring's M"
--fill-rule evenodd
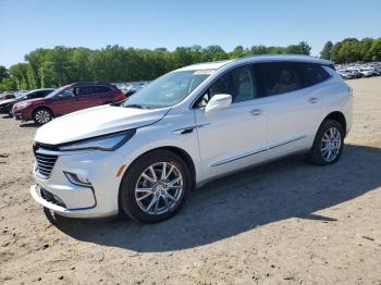
M143 110L101 106L74 112L42 125L35 141L59 145L78 139L137 128L160 121L170 108Z

